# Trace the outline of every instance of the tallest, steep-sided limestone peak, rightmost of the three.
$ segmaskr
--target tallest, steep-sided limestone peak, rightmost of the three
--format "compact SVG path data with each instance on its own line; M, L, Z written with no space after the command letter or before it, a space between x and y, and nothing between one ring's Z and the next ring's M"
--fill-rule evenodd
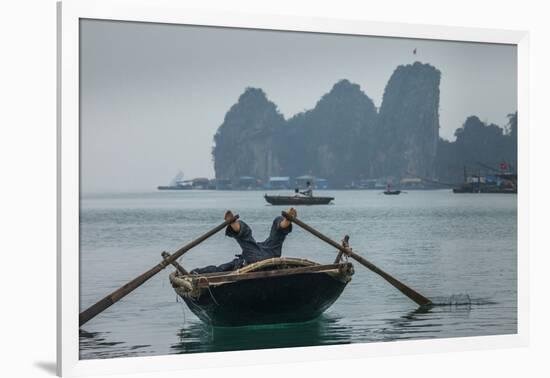
M419 62L394 71L374 131L371 176L434 176L440 77L435 67Z

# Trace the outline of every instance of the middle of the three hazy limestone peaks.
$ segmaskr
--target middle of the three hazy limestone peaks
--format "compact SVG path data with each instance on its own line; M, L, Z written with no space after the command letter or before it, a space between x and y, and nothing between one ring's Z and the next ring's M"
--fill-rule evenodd
M343 186L366 167L375 122L374 103L359 85L339 81L315 108L288 121L286 150L281 154L285 172L308 173Z

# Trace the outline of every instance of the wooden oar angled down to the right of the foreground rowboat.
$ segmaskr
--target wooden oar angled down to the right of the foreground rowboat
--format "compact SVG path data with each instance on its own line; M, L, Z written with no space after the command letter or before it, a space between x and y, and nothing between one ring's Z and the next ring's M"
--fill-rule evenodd
M417 291L411 289L407 285L405 285L403 282L399 281L397 278L392 277L390 274L384 272L382 269L378 268L373 263L367 261L363 257L359 256L355 252L352 252L349 248L345 248L341 246L340 244L336 243L334 240L330 239L329 237L323 235L316 229L314 229L311 226L308 226L301 220L299 220L296 217L292 217L290 214L288 214L286 211L282 212L282 215L288 219L289 221L296 223L298 226L302 227L304 230L309 231L313 235L317 236L319 239L323 240L324 242L332 245L334 248L338 249L339 251L345 253L346 255L354 258L357 262L359 262L361 265L365 266L366 268L372 270L374 273L380 275L382 278L384 278L386 281L388 281L391 285L393 285L397 290L405 294L407 297L412 299L414 302L416 302L420 306L429 306L432 304L432 301L430 301L428 298L424 297L422 294L418 293Z

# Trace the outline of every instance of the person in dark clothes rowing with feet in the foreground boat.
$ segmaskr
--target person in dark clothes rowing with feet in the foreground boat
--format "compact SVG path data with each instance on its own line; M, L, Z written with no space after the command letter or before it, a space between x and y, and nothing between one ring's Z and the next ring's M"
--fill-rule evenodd
M296 210L291 208L288 213L295 217ZM233 213L227 210L224 215L225 220L233 218ZM231 223L225 229L225 234L234 238L241 247L242 253L235 255L235 259L230 262L215 266L209 265L204 268L197 268L191 271L191 274L227 272L237 270L245 265L252 264L261 260L273 257L281 257L283 242L286 236L292 232L292 222L283 216L275 217L271 224L269 236L263 242L257 242L252 236L250 227L238 219Z

